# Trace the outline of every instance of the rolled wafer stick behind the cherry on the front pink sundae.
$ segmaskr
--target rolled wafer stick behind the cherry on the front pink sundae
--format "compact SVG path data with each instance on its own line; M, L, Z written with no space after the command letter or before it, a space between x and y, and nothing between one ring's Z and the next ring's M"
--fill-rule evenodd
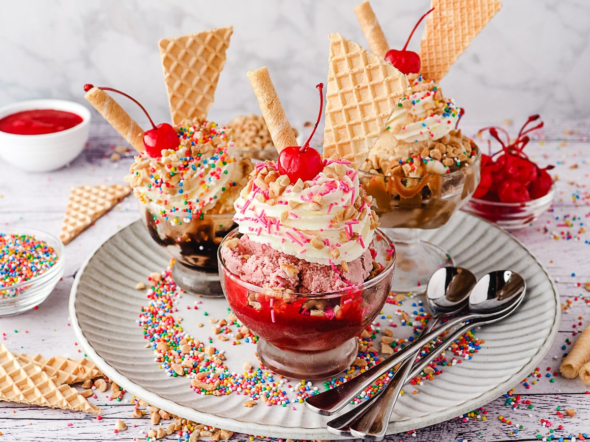
M273 138L274 146L279 152L285 147L297 146L293 128L287 120L277 91L274 90L267 67L263 66L248 71L248 80L250 80L254 94L258 98L258 105L260 105L260 111L266 121L268 131L270 131L270 137Z

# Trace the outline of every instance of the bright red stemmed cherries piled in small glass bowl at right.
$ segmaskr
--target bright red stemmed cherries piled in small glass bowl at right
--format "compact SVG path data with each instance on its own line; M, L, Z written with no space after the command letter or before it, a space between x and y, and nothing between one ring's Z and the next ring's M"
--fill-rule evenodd
M545 196L553 180L547 170L553 166L540 169L523 152L529 143L527 135L533 130L543 127L543 122L529 127L530 123L539 119L539 115L532 115L523 124L516 140L510 143L510 136L500 127L486 127L502 146L502 150L494 154L481 155L481 181L473 194L474 198L503 203L523 203ZM499 131L506 136L506 141L500 138Z

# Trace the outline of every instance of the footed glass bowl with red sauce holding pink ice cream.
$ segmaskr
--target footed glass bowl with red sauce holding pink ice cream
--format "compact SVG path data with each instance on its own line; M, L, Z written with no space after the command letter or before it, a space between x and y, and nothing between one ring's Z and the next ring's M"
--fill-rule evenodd
M227 239L240 238L237 229ZM322 379L346 368L358 354L356 336L379 314L394 276L395 252L380 230L369 249L381 273L359 286L326 293L286 293L242 281L225 266L219 275L230 307L258 335L258 357L266 367L298 379Z

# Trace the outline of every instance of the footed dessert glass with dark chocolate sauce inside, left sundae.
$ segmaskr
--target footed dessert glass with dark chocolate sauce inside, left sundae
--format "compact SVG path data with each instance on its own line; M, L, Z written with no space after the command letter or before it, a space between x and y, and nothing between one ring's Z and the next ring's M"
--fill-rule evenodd
M158 204L138 204L149 235L176 259L172 267L176 285L189 293L223 296L217 249L224 236L235 227L234 212L205 214L202 219L190 222L178 216L172 221L162 220L159 215L162 207Z

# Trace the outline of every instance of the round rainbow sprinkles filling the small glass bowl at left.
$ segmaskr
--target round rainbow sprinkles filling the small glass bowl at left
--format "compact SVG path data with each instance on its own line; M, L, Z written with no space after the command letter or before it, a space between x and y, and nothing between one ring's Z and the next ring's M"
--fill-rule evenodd
M0 287L29 281L58 259L51 246L34 236L0 233Z

